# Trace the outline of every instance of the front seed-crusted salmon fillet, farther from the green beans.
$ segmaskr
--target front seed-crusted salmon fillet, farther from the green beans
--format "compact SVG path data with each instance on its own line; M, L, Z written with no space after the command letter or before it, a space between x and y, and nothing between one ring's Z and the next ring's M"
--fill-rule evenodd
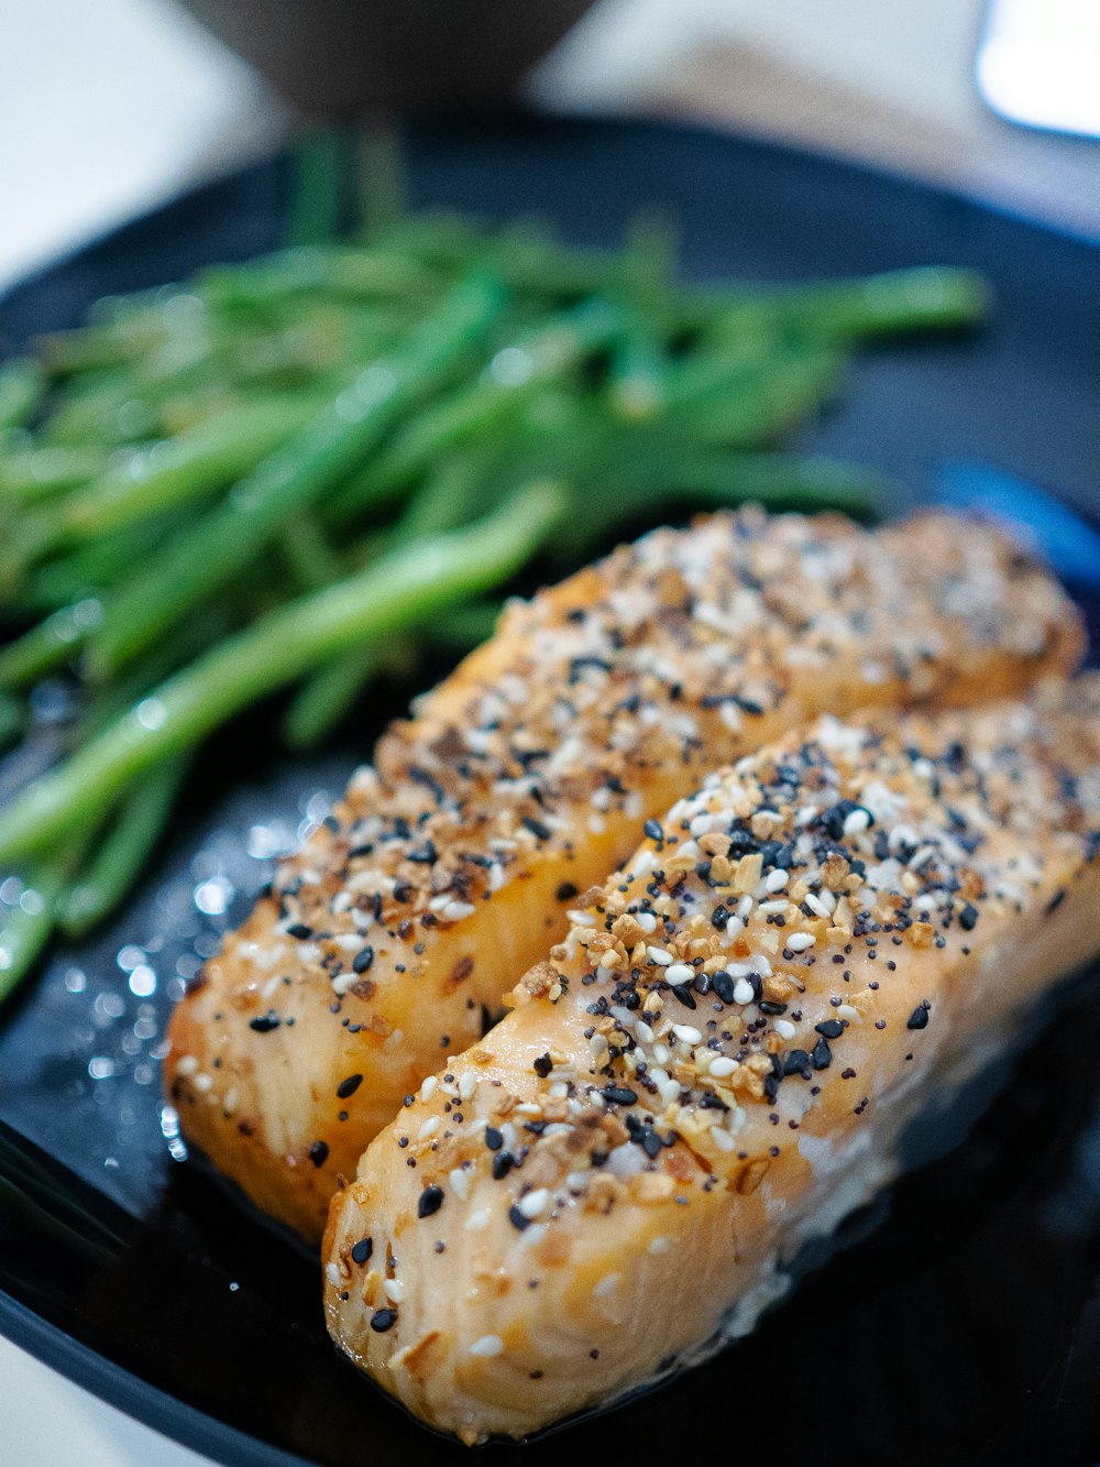
M329 1328L465 1442L748 1332L899 1130L1100 951L1100 678L710 776L333 1200Z

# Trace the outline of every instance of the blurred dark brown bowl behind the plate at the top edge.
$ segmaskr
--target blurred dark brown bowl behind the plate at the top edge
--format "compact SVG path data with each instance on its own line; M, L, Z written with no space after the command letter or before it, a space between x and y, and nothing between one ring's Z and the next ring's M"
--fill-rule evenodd
M593 0L180 0L311 113L507 95Z

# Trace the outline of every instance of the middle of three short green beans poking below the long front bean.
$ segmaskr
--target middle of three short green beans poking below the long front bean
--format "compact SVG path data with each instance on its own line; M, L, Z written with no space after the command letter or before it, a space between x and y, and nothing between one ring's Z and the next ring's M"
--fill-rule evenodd
M91 932L138 880L167 824L186 767L186 758L161 764L126 795L88 868L57 895L54 915L66 937Z

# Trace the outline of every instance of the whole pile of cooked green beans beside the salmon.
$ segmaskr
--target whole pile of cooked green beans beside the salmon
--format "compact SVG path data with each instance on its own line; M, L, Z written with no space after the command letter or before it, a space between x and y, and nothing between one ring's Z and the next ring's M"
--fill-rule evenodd
M257 700L307 748L531 562L744 499L874 513L795 434L868 343L984 307L958 270L685 286L651 226L595 252L421 214L41 337L0 367L0 745L51 750L0 811L0 998L125 898Z

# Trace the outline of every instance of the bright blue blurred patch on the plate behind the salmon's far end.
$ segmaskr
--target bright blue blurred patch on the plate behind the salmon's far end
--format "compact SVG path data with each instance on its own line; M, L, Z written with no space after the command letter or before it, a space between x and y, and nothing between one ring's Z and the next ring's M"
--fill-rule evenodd
M936 500L1011 525L1065 581L1100 591L1100 531L1082 515L1027 480L989 464L945 464Z

